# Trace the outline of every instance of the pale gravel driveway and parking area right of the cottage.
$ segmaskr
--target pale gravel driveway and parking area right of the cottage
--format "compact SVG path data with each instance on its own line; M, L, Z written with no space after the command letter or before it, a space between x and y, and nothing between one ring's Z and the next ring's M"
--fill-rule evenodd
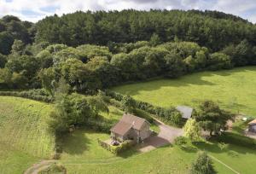
M158 119L155 119L155 122L160 127L160 133L157 136L151 136L146 139L138 149L140 152L148 152L154 148L172 143L177 136L183 135L183 130L180 128L165 125Z

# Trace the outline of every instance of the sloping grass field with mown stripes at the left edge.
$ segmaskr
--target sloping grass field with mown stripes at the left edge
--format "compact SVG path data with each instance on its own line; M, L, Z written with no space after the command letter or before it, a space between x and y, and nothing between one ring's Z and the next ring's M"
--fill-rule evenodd
M21 173L53 154L54 136L46 130L52 109L43 102L0 96L0 173Z

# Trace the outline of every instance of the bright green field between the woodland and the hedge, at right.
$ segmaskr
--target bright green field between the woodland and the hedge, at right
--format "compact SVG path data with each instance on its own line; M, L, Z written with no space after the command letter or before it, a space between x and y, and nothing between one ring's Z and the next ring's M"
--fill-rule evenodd
M256 67L203 72L177 79L159 79L113 88L119 93L160 107L196 107L206 99L233 112L256 117Z

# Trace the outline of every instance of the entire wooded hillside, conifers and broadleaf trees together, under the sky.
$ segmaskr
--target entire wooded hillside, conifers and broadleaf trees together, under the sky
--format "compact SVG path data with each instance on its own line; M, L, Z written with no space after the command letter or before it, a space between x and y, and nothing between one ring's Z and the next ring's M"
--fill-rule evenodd
M256 26L198 10L123 10L0 20L0 88L44 87L61 78L91 92L130 81L256 65Z

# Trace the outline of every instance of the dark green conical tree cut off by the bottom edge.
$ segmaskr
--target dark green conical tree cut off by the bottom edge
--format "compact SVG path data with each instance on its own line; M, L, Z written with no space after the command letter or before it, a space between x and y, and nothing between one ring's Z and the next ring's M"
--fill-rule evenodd
M212 165L212 159L207 156L206 152L198 152L195 161L189 170L190 174L214 174L216 171Z

